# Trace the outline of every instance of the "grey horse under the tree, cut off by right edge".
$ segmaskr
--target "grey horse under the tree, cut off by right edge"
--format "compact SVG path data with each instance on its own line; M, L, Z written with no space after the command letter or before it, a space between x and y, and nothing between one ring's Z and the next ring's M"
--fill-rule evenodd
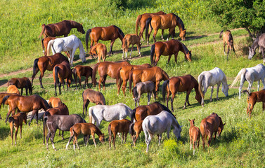
M265 48L265 34L261 34L258 36L251 47L248 55L248 59L252 59L252 57L256 54L256 49L259 47L259 51L261 51L262 57L263 57L263 64L265 63L265 57L264 57L264 48Z

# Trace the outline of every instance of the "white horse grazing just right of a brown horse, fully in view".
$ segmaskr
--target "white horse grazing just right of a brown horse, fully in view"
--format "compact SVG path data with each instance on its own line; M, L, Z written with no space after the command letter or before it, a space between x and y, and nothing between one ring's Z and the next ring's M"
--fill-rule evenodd
M211 97L209 98L209 101L212 102L212 92L214 92L214 85L217 84L217 93L216 93L216 99L219 100L218 98L218 92L219 92L219 87L222 83L223 87L221 89L221 91L224 93L224 95L226 97L228 97L228 85L227 85L227 81L226 81L226 75L224 74L224 72L215 67L214 69L210 70L210 71L203 71L202 73L200 73L199 77L198 77L198 83L199 83L199 92L200 95L202 96L202 106L205 105L205 93L207 92L207 88L209 86L211 86L212 90L211 90ZM202 91L202 87L203 87L203 91Z

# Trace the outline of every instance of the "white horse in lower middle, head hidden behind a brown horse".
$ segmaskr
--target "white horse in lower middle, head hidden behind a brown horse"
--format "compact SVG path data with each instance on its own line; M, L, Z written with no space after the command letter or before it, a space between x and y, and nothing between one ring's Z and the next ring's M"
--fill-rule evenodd
M89 122L95 124L99 127L101 121L112 121L112 120L122 120L129 116L131 118L132 110L129 106L118 103L112 106L108 105L96 105L89 108Z

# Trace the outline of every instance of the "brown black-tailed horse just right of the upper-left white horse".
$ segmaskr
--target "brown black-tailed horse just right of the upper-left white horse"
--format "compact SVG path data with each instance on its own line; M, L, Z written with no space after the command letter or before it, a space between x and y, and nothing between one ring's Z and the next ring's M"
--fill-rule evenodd
M94 27L92 29L88 29L86 31L86 50L88 49L88 43L89 43L89 36L91 38L91 44L90 48L92 47L93 43L98 43L99 40L102 41L111 41L110 42L110 54L113 54L112 52L112 45L115 42L117 38L122 41L122 38L124 38L124 33L122 32L119 27L112 25L110 27Z

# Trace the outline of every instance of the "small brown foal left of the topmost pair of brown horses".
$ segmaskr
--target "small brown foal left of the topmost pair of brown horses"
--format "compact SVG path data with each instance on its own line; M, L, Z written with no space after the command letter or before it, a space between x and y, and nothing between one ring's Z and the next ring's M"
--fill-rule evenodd
M137 36L137 34L126 34L124 38L122 39L122 59L124 59L124 52L126 59L127 58L127 51L129 49L129 46L131 45L131 52L134 49L134 44L137 46L138 53L141 57L141 43L140 43L141 38ZM131 59L131 53L130 53L130 59Z

